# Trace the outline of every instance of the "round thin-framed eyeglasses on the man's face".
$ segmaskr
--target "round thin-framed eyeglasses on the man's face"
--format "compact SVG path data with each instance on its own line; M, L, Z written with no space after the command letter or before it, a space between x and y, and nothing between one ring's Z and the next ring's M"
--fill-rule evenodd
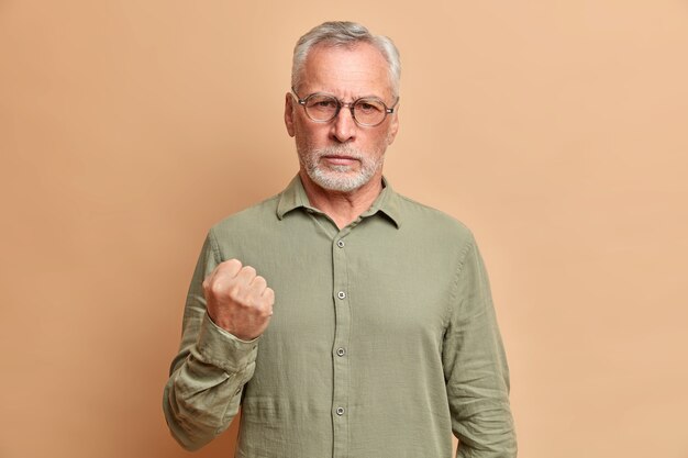
M343 107L346 107L352 112L352 118L356 124L364 127L380 125L388 114L395 112L395 107L399 103L399 98L397 98L392 108L387 108L385 102L377 97L364 97L353 102L343 102L329 93L315 92L301 99L293 88L291 88L291 92L306 110L306 115L312 121L330 122L340 114Z

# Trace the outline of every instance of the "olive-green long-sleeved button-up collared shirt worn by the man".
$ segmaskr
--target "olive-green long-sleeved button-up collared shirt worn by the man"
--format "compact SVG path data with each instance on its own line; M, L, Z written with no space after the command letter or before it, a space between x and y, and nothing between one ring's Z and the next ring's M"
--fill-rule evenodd
M385 187L343 228L300 179L212 227L165 388L175 438L196 449L241 406L237 458L514 457L509 376L470 232ZM243 342L206 312L220 262L275 291L265 333Z

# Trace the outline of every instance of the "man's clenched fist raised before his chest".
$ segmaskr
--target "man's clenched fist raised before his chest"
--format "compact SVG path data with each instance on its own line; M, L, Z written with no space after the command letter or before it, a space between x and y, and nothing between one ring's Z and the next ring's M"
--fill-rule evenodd
M270 322L275 292L237 259L215 267L203 281L203 294L213 323L242 340L258 337Z

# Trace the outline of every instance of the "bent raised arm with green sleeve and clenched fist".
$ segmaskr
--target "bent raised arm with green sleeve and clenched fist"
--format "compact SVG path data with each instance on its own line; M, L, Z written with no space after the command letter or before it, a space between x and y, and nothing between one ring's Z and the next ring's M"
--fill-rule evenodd
M273 302L273 291L255 270L235 259L221 261L211 231L191 279L181 345L163 398L167 424L182 447L208 444L238 412ZM232 332L225 328L236 324L241 327Z

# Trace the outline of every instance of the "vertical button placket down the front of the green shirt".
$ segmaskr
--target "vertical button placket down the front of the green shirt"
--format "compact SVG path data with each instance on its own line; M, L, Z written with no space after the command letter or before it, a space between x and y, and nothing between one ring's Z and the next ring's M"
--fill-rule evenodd
M345 230L346 231L346 230ZM348 380L349 366L346 347L351 335L351 294L346 267L346 252L348 245L344 242L346 233L337 234L332 243L332 267L334 273L333 300L335 313L335 331L333 345L333 393L332 420L334 423L334 457L348 456ZM346 249L345 249L346 248Z

